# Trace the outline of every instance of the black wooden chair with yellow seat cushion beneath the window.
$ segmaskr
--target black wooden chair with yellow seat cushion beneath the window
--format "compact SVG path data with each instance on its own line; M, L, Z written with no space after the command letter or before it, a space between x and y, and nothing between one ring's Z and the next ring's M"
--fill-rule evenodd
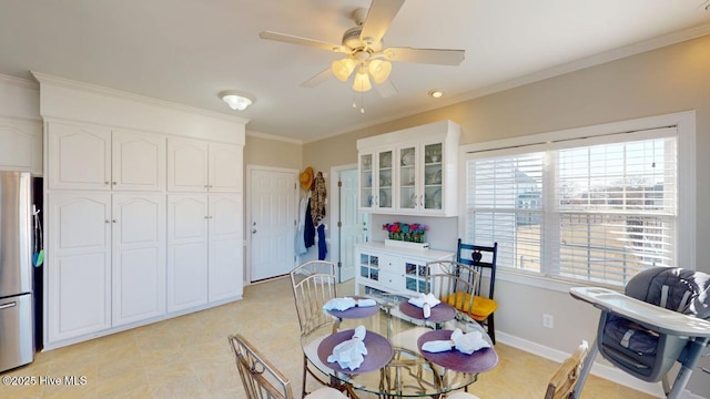
M494 313L498 308L498 304L494 299L494 289L496 286L496 262L498 259L498 243L493 246L481 246L473 244L463 244L458 238L458 247L456 250L456 262L467 265L478 272L479 276L484 276L485 269L489 270L488 288L481 286L483 278L476 284L476 297L474 298L474 307L470 317L476 321L486 326L490 340L496 344L496 328L494 324Z

